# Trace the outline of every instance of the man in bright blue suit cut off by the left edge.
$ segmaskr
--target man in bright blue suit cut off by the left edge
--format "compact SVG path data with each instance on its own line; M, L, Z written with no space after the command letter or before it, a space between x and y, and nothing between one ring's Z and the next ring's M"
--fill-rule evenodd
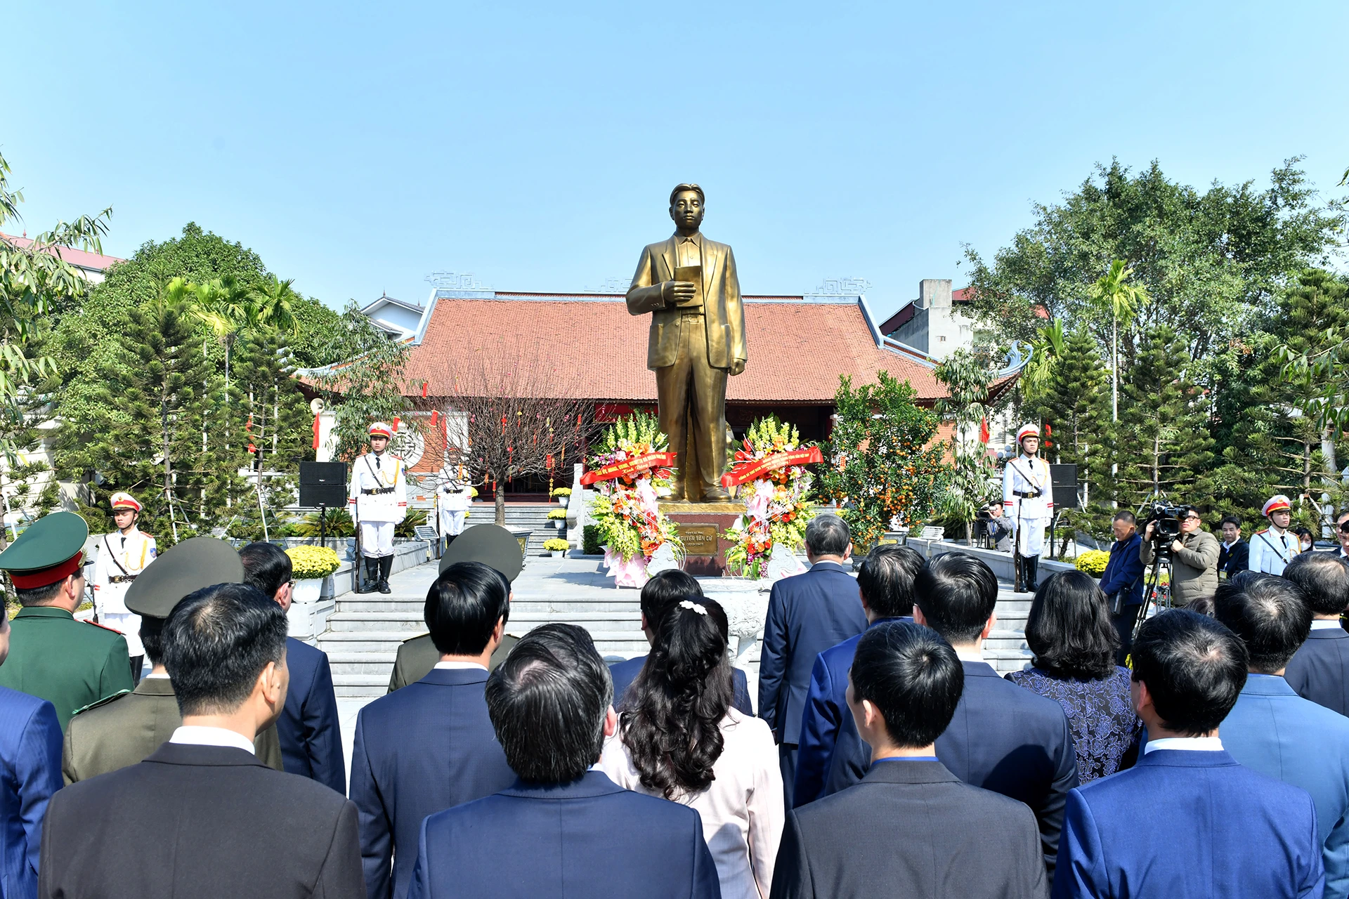
M0 664L9 655L9 615L0 609ZM47 801L61 788L61 722L46 700L0 687L0 877L5 896L38 895L38 850Z

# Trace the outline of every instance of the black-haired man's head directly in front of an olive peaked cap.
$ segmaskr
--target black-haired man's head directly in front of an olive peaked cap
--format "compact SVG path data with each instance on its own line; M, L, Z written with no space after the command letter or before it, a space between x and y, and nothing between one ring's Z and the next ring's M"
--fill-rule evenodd
M445 655L480 655L510 619L510 582L482 562L455 562L426 590L430 642Z

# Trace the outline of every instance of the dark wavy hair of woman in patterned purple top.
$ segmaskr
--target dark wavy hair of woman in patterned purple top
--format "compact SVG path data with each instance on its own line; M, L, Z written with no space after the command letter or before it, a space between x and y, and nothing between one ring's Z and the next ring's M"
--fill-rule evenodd
M1059 571L1040 585L1025 620L1035 667L1066 678L1095 681L1114 674L1120 632L1105 593L1082 571Z

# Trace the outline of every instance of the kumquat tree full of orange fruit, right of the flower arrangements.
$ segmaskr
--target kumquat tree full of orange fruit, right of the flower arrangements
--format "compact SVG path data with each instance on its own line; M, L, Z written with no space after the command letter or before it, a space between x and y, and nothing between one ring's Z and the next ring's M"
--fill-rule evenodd
M950 474L942 446L932 443L938 416L919 407L915 396L889 372L857 388L851 379L840 379L820 481L842 507L859 547L878 540L892 518L904 524L925 520Z

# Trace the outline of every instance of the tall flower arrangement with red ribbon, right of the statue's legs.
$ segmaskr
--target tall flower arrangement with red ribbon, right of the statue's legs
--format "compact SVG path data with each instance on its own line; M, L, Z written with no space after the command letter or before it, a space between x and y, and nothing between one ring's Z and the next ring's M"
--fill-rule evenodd
M785 565L784 550L796 553L805 543L805 526L815 518L805 501L812 480L805 466L820 461L820 447L803 447L796 427L776 415L750 426L743 449L737 450L731 470L722 478L745 499L745 515L723 534L731 543L726 551L728 571L747 578L781 578L805 570L800 561ZM770 565L774 549L777 562Z

